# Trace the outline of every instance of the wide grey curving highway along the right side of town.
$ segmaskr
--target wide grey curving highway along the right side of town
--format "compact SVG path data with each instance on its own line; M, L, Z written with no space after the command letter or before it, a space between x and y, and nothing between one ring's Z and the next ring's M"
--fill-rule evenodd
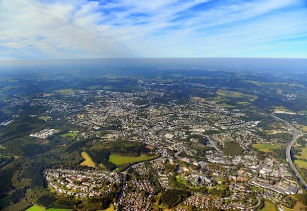
M273 116L275 119L278 119L280 121L285 122L288 127L290 127L292 129L292 140L290 141L290 143L287 146L287 150L286 150L286 157L287 157L287 161L289 163L290 168L292 169L292 171L294 172L295 176L297 177L298 181L303 185L303 187L307 190L307 184L306 182L303 180L303 178L301 177L301 175L299 174L299 172L297 171L297 169L295 168L295 166L293 165L292 159L291 159L291 148L293 146L293 144L295 143L295 141L298 138L298 130L290 123L288 123L287 121L285 121L284 119L281 119L277 116L274 116L271 114L271 116Z

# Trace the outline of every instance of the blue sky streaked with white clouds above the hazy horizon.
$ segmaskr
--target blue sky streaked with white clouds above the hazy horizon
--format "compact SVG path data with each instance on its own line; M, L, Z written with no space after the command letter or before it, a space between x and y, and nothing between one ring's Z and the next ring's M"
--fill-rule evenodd
M0 60L307 58L306 0L0 0Z

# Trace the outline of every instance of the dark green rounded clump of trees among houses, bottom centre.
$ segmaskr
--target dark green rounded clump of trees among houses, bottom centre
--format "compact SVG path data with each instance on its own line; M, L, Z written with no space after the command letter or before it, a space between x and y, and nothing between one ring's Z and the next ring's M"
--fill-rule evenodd
M191 195L190 192L180 190L180 189L171 189L165 192L162 192L161 202L167 209L171 209L185 200L185 198Z

